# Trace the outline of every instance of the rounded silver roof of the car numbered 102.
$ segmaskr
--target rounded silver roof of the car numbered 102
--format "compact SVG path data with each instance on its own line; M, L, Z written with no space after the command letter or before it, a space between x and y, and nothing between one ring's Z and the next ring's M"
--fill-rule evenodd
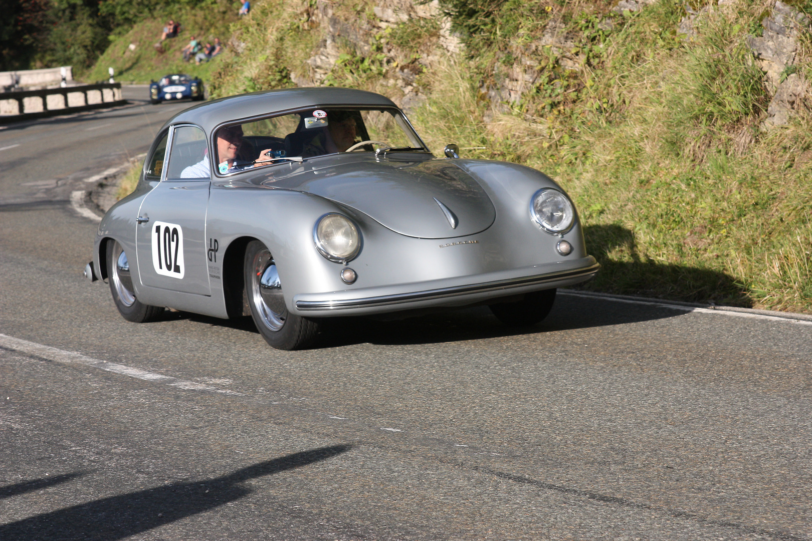
M282 88L206 101L201 105L181 111L170 118L164 126L190 122L202 127L206 133L211 133L214 127L223 122L240 118L258 117L277 111L303 109L310 106L335 107L341 105L397 107L387 97L354 88Z

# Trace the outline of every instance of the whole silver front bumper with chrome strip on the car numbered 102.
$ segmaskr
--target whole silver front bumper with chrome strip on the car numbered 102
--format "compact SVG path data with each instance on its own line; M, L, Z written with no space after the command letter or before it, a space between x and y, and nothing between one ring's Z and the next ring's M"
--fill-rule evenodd
M510 271L395 286L298 294L297 312L306 316L349 316L427 307L460 307L499 298L572 286L587 281L600 264L587 255L569 264L539 264ZM460 283L462 282L462 283Z

